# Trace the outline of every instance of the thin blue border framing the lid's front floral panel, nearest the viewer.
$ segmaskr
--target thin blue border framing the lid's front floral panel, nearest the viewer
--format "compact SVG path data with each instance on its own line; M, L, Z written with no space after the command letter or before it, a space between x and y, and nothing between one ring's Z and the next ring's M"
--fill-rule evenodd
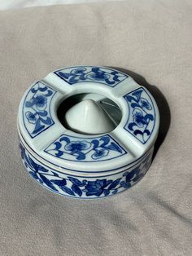
M115 141L115 142L117 143L117 145L124 151L124 153L122 153L120 156L117 156L117 157L124 156L125 154L128 153L128 152L120 145L120 143L118 143L118 142L116 141L116 139L112 138L111 135L108 135L108 134L106 134L106 135L109 136L109 137L112 139L112 141ZM103 135L103 136L106 136L106 135ZM67 136L67 137L69 137L69 138L75 138L75 139L98 139L98 138L101 138L100 136L98 136L98 137L86 137L86 138L85 138L85 137L81 137L81 138L78 138L78 137L75 137L75 136L72 136L72 135L65 135L65 134L63 134L63 135L60 135L57 139L55 139L55 141L53 141L52 143L50 143L50 145L54 144L54 143L55 143L60 137L62 137L62 136ZM52 156L52 157L55 157L53 154L50 154L49 152L46 151L46 149L49 148L50 145L47 146L47 147L44 149L44 152L46 152L47 154L49 154L49 155ZM107 158L107 159L104 159L104 160L97 160L97 161L70 160L70 159L63 158L63 157L56 157L56 158L63 159L63 160L67 160L67 161L77 161L77 162L98 162L98 161L109 161L109 160L115 159L115 158L117 158L117 157L111 157L111 158Z

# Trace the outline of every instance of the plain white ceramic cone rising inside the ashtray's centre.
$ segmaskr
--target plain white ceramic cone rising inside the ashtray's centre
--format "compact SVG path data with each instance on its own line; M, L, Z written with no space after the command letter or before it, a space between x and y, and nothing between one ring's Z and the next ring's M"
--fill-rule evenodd
M84 99L65 114L68 128L87 135L98 135L114 130L116 124L93 99Z

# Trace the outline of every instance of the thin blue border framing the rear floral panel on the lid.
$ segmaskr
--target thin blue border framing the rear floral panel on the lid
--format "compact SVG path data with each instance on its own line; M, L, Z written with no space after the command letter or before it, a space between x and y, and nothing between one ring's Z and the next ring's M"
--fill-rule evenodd
M122 75L124 75L125 76L125 78L123 79L123 80L121 80L120 82L123 82L126 78L128 78L129 77L129 75L127 75L127 74L125 74L125 73L122 73L122 72L120 72L119 70L116 70L116 69L111 69L111 68L106 68L106 67L102 67L102 66L72 66L72 67L68 67L68 68L61 68L61 69L58 69L58 70L56 70L54 73L55 73L55 75L56 76L58 76L59 78L61 78L64 82L67 82L70 86L73 86L74 84L71 84L71 83L69 83L67 80L65 80L63 77L61 77L57 72L62 72L63 70L65 70L65 69L69 69L69 68L104 68L104 69L108 69L108 70L110 70L110 71L116 71L116 72L118 72L118 73L120 73L120 74L122 74ZM107 83L104 83L104 82L98 82L98 81L81 81L81 82L96 82L96 83L100 83L100 84L103 84L103 85L107 85ZM120 82L117 82L116 83L116 85L115 86L117 86ZM80 83L80 82L76 82L76 83ZM109 86L109 85L107 85L107 86ZM109 86L109 87L115 87L115 86Z

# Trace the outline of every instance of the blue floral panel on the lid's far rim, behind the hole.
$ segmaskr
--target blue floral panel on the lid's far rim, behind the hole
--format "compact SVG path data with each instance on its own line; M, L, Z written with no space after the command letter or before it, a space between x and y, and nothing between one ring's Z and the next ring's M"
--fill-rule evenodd
M55 74L70 85L77 82L99 82L112 87L129 77L111 68L93 66L64 68L55 71Z

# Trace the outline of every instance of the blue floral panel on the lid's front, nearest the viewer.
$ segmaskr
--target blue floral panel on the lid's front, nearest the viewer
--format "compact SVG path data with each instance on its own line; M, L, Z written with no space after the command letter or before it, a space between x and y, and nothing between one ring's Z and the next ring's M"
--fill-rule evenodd
M45 152L69 161L105 161L127 153L110 135L94 138L62 135Z

